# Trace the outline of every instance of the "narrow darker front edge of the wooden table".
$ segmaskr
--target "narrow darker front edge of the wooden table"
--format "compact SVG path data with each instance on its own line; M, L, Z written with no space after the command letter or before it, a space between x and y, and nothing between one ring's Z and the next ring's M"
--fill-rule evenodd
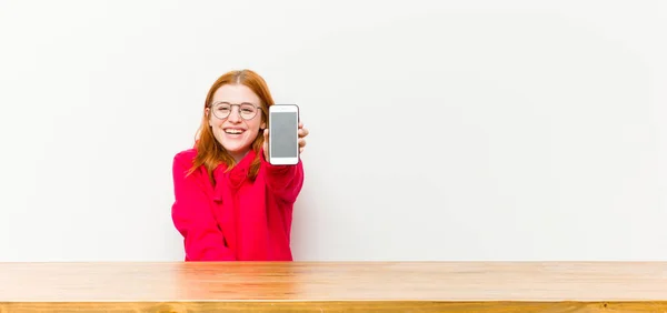
M667 303L587 302L120 302L0 303L0 312L667 312Z

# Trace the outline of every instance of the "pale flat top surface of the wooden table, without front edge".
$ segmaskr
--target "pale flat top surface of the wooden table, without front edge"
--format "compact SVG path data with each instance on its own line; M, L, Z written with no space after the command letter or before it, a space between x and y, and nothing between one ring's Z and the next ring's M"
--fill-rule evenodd
M0 302L667 301L667 262L0 263Z

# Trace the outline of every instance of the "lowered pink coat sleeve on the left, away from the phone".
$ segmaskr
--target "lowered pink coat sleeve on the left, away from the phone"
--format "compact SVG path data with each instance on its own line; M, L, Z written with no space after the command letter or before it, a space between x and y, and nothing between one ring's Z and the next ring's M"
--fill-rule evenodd
M209 201L189 168L173 159L173 225L183 236L186 261L233 261L233 252L225 245L222 231L213 218Z

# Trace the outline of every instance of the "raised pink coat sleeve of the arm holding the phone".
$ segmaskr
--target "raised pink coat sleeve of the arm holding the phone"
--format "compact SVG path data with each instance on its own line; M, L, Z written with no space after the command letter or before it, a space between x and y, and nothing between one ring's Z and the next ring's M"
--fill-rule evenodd
M303 186L303 164L301 160L296 165L273 165L260 154L261 166L267 172L269 191L278 199L295 203Z

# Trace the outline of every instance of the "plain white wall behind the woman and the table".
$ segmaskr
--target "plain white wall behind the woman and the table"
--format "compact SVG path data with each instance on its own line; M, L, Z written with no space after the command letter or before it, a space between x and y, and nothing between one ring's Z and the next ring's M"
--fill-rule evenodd
M182 260L223 72L311 131L297 260L667 260L664 1L0 1L0 261Z

